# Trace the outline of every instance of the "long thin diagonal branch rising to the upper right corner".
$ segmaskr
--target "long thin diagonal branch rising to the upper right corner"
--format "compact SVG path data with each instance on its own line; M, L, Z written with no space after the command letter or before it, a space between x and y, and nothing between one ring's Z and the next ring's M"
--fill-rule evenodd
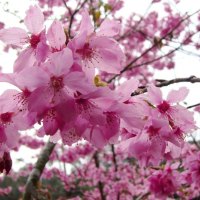
M169 32L167 32L162 38L160 38L160 41L166 39L168 36L172 35L173 32L187 19L189 19L190 17L192 17L193 15L195 15L196 13L200 12L200 9L197 10L196 12L187 15L185 18L183 18L182 20L180 20L176 26L174 26ZM137 58L133 59L131 62L129 62L123 70L120 71L119 74L116 74L115 76L113 76L110 80L108 80L107 82L110 83L112 82L116 77L120 76L122 73L124 73L125 71L132 69L132 65L137 62L139 59L141 59L143 56L145 56L147 53L149 53L152 49L154 49L157 46L156 43L154 43L150 48L146 49L140 56L138 56Z

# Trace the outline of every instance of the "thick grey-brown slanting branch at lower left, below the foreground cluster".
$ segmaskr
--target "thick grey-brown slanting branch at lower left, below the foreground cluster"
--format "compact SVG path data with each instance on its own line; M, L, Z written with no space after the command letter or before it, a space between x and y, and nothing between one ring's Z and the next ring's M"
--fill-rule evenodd
M37 185L40 180L40 176L44 170L46 163L49 161L49 157L56 144L48 142L44 149L42 149L40 156L28 177L23 200L33 200L37 194Z

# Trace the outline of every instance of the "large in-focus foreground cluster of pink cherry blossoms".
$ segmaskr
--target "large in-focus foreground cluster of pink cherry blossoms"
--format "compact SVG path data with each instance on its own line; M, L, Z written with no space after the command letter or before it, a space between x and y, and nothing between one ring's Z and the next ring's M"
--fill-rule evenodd
M161 90L149 85L146 94L131 97L140 85L137 79L119 85L103 80L103 73L119 74L125 63L113 38L120 31L117 21L105 19L95 28L83 10L74 37L58 20L47 30L44 23L42 11L31 6L24 19L27 30L0 30L1 41L22 48L14 72L0 74L1 82L17 88L0 96L1 172L11 168L9 152L19 146L20 131L35 124L38 136L65 145L81 139L97 148L119 143L145 166L180 156L184 137L196 128L193 113L179 104L188 89L172 90L163 99Z

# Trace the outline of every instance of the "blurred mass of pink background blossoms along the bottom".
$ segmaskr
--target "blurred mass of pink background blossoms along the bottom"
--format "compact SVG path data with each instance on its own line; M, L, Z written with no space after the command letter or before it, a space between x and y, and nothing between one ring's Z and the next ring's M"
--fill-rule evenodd
M50 163L59 161L60 167L44 170L37 189L38 195L72 200L101 199L102 195L108 200L199 198L198 151L195 145L185 144L179 159L142 168L133 157L110 146L97 151L89 143L63 150L62 145L57 145ZM67 168L68 165L72 167L70 174L62 167ZM25 190L25 180L33 167L30 163L19 172L2 177L1 198L20 198ZM7 181L9 178L12 178L12 187Z

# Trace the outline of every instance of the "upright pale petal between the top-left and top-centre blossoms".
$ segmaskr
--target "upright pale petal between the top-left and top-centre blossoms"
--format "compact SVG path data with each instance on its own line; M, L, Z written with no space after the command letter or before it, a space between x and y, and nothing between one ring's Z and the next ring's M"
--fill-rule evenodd
M60 21L54 21L47 32L47 40L52 48L61 50L66 42L66 35Z

